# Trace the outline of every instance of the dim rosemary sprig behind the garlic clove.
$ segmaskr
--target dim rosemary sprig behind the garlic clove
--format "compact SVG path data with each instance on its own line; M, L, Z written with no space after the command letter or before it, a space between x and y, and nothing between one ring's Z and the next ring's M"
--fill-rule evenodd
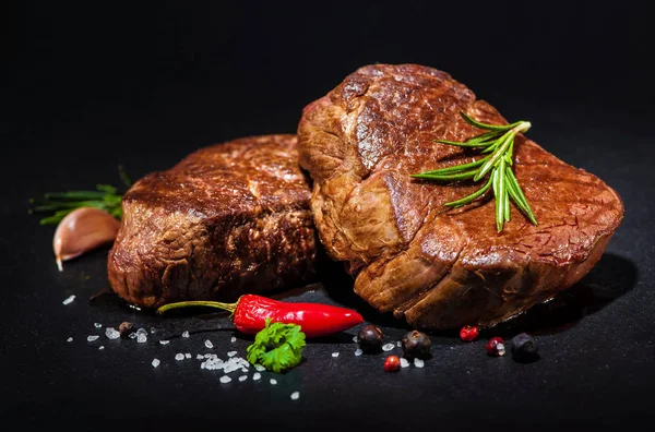
M126 189L129 189L132 181L122 166L118 167L118 175ZM100 208L120 219L122 217L121 200L122 193L117 188L110 184L97 184L95 191L49 192L44 194L41 200L31 199L29 203L34 206L28 213L50 213L49 216L39 220L40 225L59 224L66 215L80 207Z

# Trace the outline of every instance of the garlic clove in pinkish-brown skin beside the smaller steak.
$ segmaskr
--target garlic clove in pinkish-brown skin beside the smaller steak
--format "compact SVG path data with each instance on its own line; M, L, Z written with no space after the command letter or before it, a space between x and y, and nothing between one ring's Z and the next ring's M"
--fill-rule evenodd
M52 249L57 267L116 239L120 221L109 213L95 207L80 207L66 215L57 226Z

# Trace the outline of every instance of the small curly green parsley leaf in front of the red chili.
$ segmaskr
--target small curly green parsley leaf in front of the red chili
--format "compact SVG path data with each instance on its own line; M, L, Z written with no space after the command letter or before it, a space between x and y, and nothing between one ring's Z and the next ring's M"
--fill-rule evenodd
M266 326L255 336L247 348L246 357L251 364L260 363L269 371L281 373L295 368L302 360L305 333L297 324L273 323L266 319Z

